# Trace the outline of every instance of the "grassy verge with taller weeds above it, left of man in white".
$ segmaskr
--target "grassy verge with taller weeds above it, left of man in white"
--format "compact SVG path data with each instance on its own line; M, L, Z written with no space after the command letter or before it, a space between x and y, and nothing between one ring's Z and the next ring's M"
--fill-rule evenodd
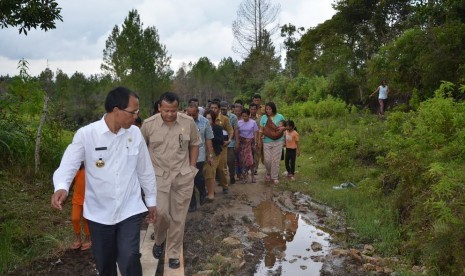
M0 121L0 275L38 257L53 256L72 239L71 204L50 207L51 174L72 133L52 125L42 133L41 167L34 175L35 131L20 117ZM34 120L28 120L34 124Z

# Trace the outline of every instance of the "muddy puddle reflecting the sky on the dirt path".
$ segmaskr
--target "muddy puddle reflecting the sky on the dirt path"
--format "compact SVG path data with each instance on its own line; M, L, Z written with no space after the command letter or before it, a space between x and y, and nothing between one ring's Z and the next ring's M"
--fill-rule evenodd
M329 251L328 233L271 201L260 203L254 215L261 231L268 235L263 238L266 252L255 275L319 275L320 259ZM312 249L315 242L321 250Z

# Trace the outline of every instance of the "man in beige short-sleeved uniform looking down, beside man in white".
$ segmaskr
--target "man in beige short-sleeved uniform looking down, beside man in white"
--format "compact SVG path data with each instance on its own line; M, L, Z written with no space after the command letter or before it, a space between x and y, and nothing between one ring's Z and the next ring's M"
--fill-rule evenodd
M180 266L184 226L192 197L197 157L202 140L194 120L178 113L179 97L160 96L160 113L146 119L141 132L149 148L157 177L158 218L154 224L153 255L163 256L165 241L169 267Z

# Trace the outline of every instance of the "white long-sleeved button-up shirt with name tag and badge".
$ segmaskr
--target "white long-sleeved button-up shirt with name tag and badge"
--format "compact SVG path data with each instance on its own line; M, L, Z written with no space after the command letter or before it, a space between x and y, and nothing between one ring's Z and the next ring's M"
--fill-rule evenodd
M104 165L97 167L101 159ZM69 191L81 161L85 162L84 217L113 225L156 205L156 179L139 128L110 131L104 118L80 128L53 174L55 191Z

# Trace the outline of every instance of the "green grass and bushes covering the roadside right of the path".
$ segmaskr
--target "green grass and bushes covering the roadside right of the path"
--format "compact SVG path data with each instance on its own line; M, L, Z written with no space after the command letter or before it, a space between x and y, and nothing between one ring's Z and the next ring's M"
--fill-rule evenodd
M297 181L283 188L343 210L356 233L349 246L370 243L429 274L463 275L465 104L446 88L387 120L331 99L282 106L303 152ZM357 188L333 188L347 182Z

